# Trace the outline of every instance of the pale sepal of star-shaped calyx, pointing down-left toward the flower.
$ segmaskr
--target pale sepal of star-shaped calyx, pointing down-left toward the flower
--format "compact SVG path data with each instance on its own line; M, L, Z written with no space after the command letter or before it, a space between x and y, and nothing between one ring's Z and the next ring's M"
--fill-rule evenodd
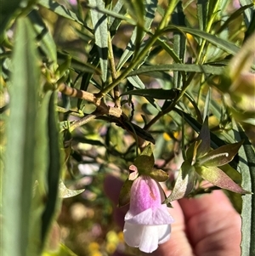
M174 200L188 196L194 188L195 182L195 168L190 165L190 162L184 161L180 170L178 171L178 177L176 179L173 191L170 196L164 201L169 203Z

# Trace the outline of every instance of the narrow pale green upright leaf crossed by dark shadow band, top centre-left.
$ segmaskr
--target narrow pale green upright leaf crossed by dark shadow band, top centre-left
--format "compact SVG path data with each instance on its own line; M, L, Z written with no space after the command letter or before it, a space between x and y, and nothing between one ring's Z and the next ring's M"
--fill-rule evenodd
M89 3L104 8L105 3L102 0L89 0ZM108 26L105 14L91 10L91 19L94 26L95 44L99 51L99 61L102 71L102 80L106 82L108 73Z

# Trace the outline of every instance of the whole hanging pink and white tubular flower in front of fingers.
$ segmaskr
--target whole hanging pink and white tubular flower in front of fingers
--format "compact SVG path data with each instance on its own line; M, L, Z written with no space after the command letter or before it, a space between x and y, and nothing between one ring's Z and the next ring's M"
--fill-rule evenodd
M141 175L133 181L130 208L125 216L124 239L127 245L139 247L144 253L156 250L170 238L172 216L161 204L164 194L159 183Z

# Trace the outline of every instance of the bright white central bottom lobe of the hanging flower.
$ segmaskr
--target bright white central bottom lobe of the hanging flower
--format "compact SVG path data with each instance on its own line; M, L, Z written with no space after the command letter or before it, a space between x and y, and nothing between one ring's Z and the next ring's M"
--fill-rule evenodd
M139 245L140 251L144 253L152 253L158 247L158 229L157 226L144 226L143 236Z

